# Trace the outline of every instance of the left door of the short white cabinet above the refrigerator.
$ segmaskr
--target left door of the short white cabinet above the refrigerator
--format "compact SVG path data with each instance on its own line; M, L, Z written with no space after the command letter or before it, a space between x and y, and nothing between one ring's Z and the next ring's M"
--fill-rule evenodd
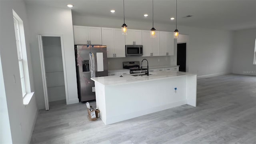
M87 26L73 26L74 28L74 43L88 44L88 28Z

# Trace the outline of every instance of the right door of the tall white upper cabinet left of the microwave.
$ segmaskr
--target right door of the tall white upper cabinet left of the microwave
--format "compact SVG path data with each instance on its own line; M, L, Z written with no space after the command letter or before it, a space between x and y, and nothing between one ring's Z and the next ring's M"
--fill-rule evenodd
M125 57L125 36L120 28L114 28L114 48L117 58Z

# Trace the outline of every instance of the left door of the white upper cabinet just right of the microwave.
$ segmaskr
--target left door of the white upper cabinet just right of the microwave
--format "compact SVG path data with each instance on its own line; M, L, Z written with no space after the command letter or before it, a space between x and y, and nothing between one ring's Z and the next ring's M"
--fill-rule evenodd
M151 38L150 30L142 31L142 44L143 44L143 55L142 56L151 56Z

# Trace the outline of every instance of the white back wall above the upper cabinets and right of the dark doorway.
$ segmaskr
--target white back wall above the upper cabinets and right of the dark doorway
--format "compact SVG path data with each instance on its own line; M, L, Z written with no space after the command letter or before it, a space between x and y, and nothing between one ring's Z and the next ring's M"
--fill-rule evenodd
M108 19L92 16L73 16L73 24L78 26L98 26L120 28L122 19ZM152 23L126 20L129 29L150 30ZM168 24L154 23L157 31L173 31L175 26ZM188 72L197 73L198 76L210 76L226 74L232 72L232 42L233 32L225 30L213 30L205 28L194 28L178 26L180 34L189 35L188 46ZM175 46L176 47L176 46ZM139 59L139 58L137 58ZM151 58L150 58L151 59ZM176 64L176 55L168 57L170 62L166 64ZM119 60L128 58L111 58L111 63L120 63ZM154 61L154 62L152 62ZM150 60L151 63L158 64L158 57ZM161 65L163 65L161 63ZM109 66L111 69L115 66ZM120 68L120 65L116 66Z

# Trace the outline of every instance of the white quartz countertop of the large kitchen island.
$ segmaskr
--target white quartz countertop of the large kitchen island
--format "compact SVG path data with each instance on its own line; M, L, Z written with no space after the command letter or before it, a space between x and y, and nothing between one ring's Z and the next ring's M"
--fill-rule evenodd
M120 84L128 84L128 83L135 83L135 82L145 82L151 80L160 80L166 78L174 78L178 76L188 76L188 75L196 75L190 74L188 72L150 72L151 75L149 76L131 76L131 75L124 75L123 77L120 76L103 76L103 77L96 77L91 78L95 82L99 82L104 86L112 86L112 85L120 85Z

